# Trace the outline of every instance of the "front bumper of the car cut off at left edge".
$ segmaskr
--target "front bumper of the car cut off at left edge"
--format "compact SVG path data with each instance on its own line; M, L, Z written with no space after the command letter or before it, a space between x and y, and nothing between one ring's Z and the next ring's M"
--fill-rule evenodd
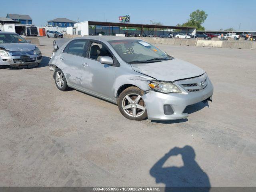
M42 61L42 53L28 56L29 58L27 57L26 60L22 59L21 56L1 56L0 65L11 67L36 66Z

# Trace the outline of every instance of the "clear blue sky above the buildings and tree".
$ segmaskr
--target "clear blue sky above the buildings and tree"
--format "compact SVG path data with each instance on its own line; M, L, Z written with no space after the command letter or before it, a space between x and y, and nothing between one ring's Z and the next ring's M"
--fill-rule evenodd
M40 26L48 20L63 17L71 20L118 22L118 16L130 14L131 23L149 24L150 20L165 25L182 24L194 10L204 10L207 30L233 27L256 30L256 1L241 0L2 0L0 17L7 13L28 14L33 24Z

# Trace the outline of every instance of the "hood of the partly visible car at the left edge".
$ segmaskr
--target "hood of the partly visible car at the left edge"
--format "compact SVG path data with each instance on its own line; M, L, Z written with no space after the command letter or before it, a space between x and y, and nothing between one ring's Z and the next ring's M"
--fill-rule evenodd
M30 43L1 43L0 47L9 51L32 51L35 50L36 45Z

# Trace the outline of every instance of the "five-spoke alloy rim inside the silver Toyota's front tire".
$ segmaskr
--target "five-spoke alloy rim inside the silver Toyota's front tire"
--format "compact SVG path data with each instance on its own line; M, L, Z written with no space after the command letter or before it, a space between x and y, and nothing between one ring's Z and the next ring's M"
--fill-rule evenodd
M146 106L139 94L127 94L122 100L122 108L124 112L131 117L139 117L146 111Z

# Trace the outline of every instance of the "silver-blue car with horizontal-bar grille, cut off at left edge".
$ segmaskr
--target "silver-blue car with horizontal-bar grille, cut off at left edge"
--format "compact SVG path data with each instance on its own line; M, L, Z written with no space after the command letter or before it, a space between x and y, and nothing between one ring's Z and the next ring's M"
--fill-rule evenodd
M0 66L38 66L42 53L20 35L0 32Z

